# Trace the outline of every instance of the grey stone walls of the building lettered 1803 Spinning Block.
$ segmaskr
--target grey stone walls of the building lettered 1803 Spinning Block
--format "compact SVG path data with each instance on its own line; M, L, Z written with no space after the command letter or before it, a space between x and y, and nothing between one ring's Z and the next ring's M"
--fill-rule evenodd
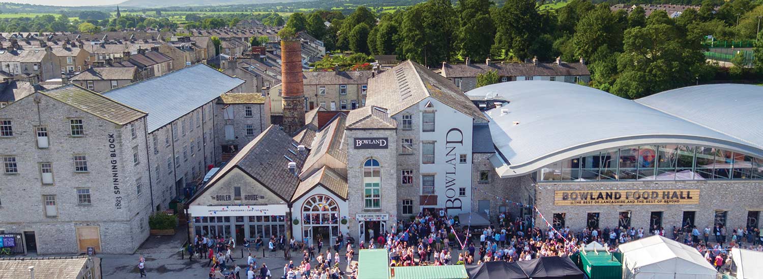
M41 255L81 252L76 227L82 226L98 227L97 252L134 252L149 233L149 182L139 195L134 179L148 173L145 118L117 125L38 96L39 103L30 96L0 109L0 119L14 128L13 137L0 138L0 157L14 156L18 165L18 173L2 173L0 227L34 232ZM82 119L84 136L71 136L69 119ZM37 147L37 126L47 127L49 147ZM85 156L87 171L75 171L75 155ZM42 184L40 163L52 164L53 184ZM78 189L89 189L89 203L79 201ZM55 217L46 216L44 195L55 196Z

